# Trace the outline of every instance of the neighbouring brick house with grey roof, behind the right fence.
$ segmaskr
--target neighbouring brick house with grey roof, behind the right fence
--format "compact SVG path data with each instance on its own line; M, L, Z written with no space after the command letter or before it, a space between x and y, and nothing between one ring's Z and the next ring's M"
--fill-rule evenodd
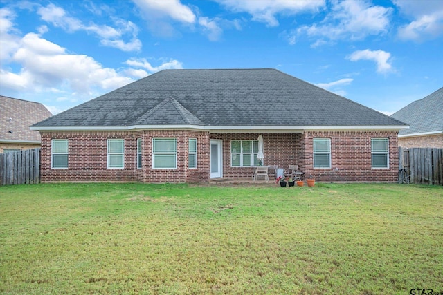
M399 146L443 149L443 87L391 117L410 125L399 131Z

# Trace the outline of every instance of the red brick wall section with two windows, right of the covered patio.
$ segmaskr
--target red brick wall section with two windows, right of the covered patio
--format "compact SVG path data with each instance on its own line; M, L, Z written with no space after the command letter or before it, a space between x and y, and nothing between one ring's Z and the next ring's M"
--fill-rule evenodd
M396 182L398 175L397 131L305 131L305 179L318 181ZM331 169L314 169L314 138L330 138ZM371 166L371 139L389 139L389 168Z

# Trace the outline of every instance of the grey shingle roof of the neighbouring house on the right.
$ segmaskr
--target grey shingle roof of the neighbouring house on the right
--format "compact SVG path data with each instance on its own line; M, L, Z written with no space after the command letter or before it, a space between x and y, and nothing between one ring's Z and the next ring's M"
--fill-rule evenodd
M409 129L399 131L399 137L443 133L443 87L401 108L391 117L410 125Z

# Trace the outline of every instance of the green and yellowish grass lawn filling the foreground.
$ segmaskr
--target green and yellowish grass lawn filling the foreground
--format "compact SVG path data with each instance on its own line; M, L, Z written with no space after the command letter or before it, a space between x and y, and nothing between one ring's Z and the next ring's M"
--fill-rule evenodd
M443 292L443 187L21 185L0 216L1 294Z

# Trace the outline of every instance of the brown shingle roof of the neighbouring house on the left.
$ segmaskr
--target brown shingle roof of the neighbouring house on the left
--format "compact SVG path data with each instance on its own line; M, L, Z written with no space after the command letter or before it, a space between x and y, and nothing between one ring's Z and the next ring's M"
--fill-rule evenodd
M0 142L39 144L40 133L31 131L30 125L52 114L38 102L0 95Z

